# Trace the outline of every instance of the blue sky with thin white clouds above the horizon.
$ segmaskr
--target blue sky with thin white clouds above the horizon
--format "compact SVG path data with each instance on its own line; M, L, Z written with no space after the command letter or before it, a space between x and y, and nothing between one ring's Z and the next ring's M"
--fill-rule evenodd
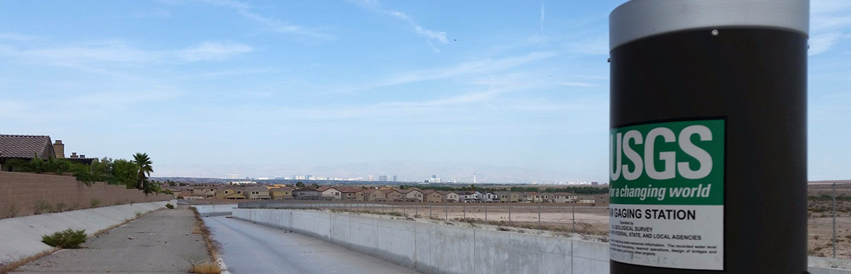
M155 177L608 182L624 2L0 0L0 134ZM811 6L808 175L851 179L851 1Z

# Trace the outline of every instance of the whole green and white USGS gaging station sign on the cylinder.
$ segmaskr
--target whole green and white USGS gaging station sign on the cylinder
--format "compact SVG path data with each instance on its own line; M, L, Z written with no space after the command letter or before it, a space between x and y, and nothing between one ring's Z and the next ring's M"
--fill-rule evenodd
M722 119L611 130L611 260L723 270L724 137Z

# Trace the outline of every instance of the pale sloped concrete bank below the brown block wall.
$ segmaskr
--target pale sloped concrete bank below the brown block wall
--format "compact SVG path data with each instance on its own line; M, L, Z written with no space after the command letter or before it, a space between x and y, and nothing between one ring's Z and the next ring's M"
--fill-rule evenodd
M0 220L0 261L18 260L50 249L42 236L68 228L94 232L133 219L136 213L165 208L169 202L133 203ZM175 204L176 201L170 201Z

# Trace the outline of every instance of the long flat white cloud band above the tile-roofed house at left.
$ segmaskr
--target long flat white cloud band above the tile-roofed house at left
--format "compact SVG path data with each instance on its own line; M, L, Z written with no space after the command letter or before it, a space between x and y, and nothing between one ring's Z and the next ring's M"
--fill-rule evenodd
M0 45L0 55L55 66L130 66L140 63L180 63L225 60L254 50L242 43L203 42L178 50L139 49L121 41L77 43L59 47L18 49Z

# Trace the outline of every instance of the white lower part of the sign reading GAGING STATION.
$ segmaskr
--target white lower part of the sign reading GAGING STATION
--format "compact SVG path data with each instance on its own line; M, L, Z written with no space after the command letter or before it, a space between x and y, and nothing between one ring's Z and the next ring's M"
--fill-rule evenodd
M612 260L723 270L723 206L611 204L609 210Z

